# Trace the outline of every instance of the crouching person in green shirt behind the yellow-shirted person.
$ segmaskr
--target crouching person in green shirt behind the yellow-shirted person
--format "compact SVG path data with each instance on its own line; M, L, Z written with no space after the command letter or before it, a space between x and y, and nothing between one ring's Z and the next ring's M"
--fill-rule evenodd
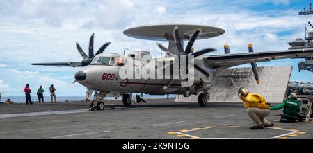
M296 93L290 93L287 100L284 100L282 104L271 107L271 110L279 110L284 108L284 114L280 118L280 122L303 122L303 116L300 116L301 103L297 100Z

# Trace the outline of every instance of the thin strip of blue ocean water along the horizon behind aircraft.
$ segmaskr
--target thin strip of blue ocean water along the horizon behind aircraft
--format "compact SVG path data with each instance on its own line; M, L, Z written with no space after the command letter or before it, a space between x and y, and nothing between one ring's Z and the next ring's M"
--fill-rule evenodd
M135 98L136 94L133 94L133 98ZM0 102L5 102L6 99L10 98L12 102L16 103L24 103L25 102L25 96L3 96L1 97ZM159 98L166 98L166 96L150 96L150 95L143 95L143 99L159 99ZM170 95L170 98L175 98L175 95ZM84 100L85 96L56 96L57 101L65 101L65 100ZM93 96L91 97L93 99ZM107 100L115 100L113 97L105 98ZM121 100L122 97L118 97L118 100ZM38 102L38 96L31 96L31 100L34 102ZM50 96L44 96L45 102L51 102Z

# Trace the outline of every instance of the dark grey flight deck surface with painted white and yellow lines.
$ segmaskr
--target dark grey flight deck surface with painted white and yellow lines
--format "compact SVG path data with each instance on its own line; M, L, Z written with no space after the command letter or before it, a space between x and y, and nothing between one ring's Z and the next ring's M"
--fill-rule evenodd
M124 107L106 102L104 111L88 111L89 102L0 104L0 138L313 138L313 123L280 123L250 130L252 120L240 103L147 100Z

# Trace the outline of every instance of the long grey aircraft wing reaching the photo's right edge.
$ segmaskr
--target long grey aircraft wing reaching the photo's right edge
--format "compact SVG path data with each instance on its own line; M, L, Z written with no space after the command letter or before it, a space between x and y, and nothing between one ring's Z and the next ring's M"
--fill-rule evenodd
M239 53L227 55L210 55L203 57L207 62L207 66L213 69L227 68L248 64L252 62L268 62L270 60L278 60L284 58L303 58L313 55L313 48L294 49L285 51L267 51L254 53Z

